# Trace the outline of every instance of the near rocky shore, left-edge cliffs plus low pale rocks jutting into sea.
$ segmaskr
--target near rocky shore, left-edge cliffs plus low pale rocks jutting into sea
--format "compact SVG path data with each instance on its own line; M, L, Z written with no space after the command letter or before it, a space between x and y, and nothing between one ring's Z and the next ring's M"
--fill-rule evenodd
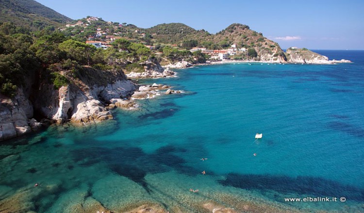
M156 67L146 66L145 72L132 72L129 76L136 79L177 76L174 71L160 65ZM86 67L83 72L80 79L67 76L70 84L58 90L50 84L42 84L33 103L30 94L23 92L25 88L20 88L14 98L0 94L0 141L38 131L53 123L84 126L113 120L111 109L135 110L139 105L134 100L184 92L174 91L167 85L138 85L127 79L122 71ZM33 118L35 111L43 117L39 122Z

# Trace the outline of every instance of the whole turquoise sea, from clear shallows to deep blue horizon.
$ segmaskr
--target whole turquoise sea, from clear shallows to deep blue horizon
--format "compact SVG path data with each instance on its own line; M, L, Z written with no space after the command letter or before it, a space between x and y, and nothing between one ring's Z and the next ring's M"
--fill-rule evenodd
M144 201L170 212L203 212L206 202L238 212L364 212L364 51L317 52L354 63L179 70L145 83L186 93L115 110L115 122L2 143L0 199L26 188L30 209L47 213L90 198L115 212ZM338 200L284 201L318 196Z

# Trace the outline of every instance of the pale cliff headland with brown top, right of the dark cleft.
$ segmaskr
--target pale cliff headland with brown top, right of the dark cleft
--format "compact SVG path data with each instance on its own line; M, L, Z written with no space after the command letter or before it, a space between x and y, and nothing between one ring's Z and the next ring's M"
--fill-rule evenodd
M68 71L70 72L70 71ZM58 123L71 121L76 124L97 123L112 119L107 105L122 101L132 91L134 84L122 71L101 71L83 67L77 78L67 72L69 85L51 90L52 85L42 85L35 100L35 109Z

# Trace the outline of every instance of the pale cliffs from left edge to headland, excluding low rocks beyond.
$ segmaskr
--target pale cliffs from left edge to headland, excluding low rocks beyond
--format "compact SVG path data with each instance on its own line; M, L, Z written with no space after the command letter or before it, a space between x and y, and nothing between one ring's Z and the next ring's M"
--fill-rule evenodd
M71 71L61 75L69 84L59 89L43 81L28 95L24 94L25 88L19 89L13 98L0 94L0 140L36 131L51 122L86 125L109 120L113 118L109 105L133 107L132 101L124 99L132 94L135 85L122 71L83 67L77 76ZM34 116L43 118L42 122Z

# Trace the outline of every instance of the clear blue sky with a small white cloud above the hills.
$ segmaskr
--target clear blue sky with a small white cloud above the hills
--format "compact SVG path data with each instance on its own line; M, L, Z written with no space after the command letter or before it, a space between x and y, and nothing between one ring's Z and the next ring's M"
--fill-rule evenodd
M364 0L36 0L72 19L90 16L140 28L183 23L210 33L232 23L309 49L364 49Z

